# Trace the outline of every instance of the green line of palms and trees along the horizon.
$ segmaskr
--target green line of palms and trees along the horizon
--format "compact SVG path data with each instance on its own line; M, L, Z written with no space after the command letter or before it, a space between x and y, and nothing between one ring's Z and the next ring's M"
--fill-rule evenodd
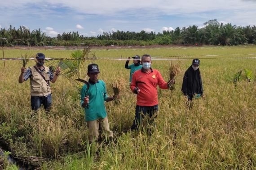
M44 32L20 26L18 29L0 29L0 45L15 46L110 46L110 45L239 45L256 44L256 26L236 26L219 23L216 19L198 26L177 27L175 30L153 31L112 31L86 37L78 32L58 34L49 37Z

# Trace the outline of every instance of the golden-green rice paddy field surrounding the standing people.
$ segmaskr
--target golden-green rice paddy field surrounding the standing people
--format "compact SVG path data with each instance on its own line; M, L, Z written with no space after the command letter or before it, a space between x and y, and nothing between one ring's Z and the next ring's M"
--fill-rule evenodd
M0 58L3 58L0 51ZM71 50L5 49L5 58L21 58L43 52L47 58L69 58ZM159 89L159 113L151 133L144 126L129 131L135 115L136 94L129 89L126 60L150 54L152 68L168 81L169 65L180 64L175 90ZM88 128L80 107L78 88L64 76L52 86L53 104L49 113L31 111L29 80L18 83L22 62L0 61L0 142L26 167L43 170L255 170L256 169L256 82L235 86L234 74L249 69L256 75L256 46L166 47L147 49L91 50L99 65L99 79L105 81L109 96L115 81L123 79L120 103L107 102L106 110L114 140L88 144ZM240 59L240 58L247 59ZM157 59L183 60L157 60ZM181 93L185 70L192 59L200 59L204 98L194 99L188 108ZM32 66L31 60L26 67ZM49 66L51 62L45 63ZM132 64L132 61L130 61ZM242 72L244 76L244 71ZM146 119L145 119L146 121ZM3 168L18 169L2 160ZM0 161L1 166L1 161Z

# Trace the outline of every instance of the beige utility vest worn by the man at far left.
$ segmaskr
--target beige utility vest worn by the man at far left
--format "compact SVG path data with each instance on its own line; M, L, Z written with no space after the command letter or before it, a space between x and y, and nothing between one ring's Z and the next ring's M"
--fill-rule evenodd
M36 67L36 66L35 66ZM30 93L31 96L46 96L51 93L51 87L44 81L44 78L39 74L39 72L36 71L34 66L31 68L31 74L30 77ZM42 74L45 77L45 80L50 80L50 69L48 67L44 66L44 71Z

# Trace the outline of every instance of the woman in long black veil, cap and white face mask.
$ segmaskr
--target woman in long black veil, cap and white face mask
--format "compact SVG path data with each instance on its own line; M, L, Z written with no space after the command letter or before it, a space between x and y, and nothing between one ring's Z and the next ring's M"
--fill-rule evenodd
M199 98L203 95L203 84L199 70L200 60L193 59L192 65L186 70L183 77L181 91L192 101L193 98Z

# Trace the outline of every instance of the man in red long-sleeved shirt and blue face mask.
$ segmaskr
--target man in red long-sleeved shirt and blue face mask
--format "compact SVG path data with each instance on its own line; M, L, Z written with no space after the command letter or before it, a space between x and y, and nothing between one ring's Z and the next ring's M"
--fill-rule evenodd
M157 85L161 89L168 89L168 85L174 84L175 80L168 83L163 80L162 75L156 69L151 68L151 56L141 57L142 68L134 72L130 89L137 94L137 106L135 108L135 118L131 129L138 129L138 125L144 116L148 115L153 123L154 114L158 111Z

